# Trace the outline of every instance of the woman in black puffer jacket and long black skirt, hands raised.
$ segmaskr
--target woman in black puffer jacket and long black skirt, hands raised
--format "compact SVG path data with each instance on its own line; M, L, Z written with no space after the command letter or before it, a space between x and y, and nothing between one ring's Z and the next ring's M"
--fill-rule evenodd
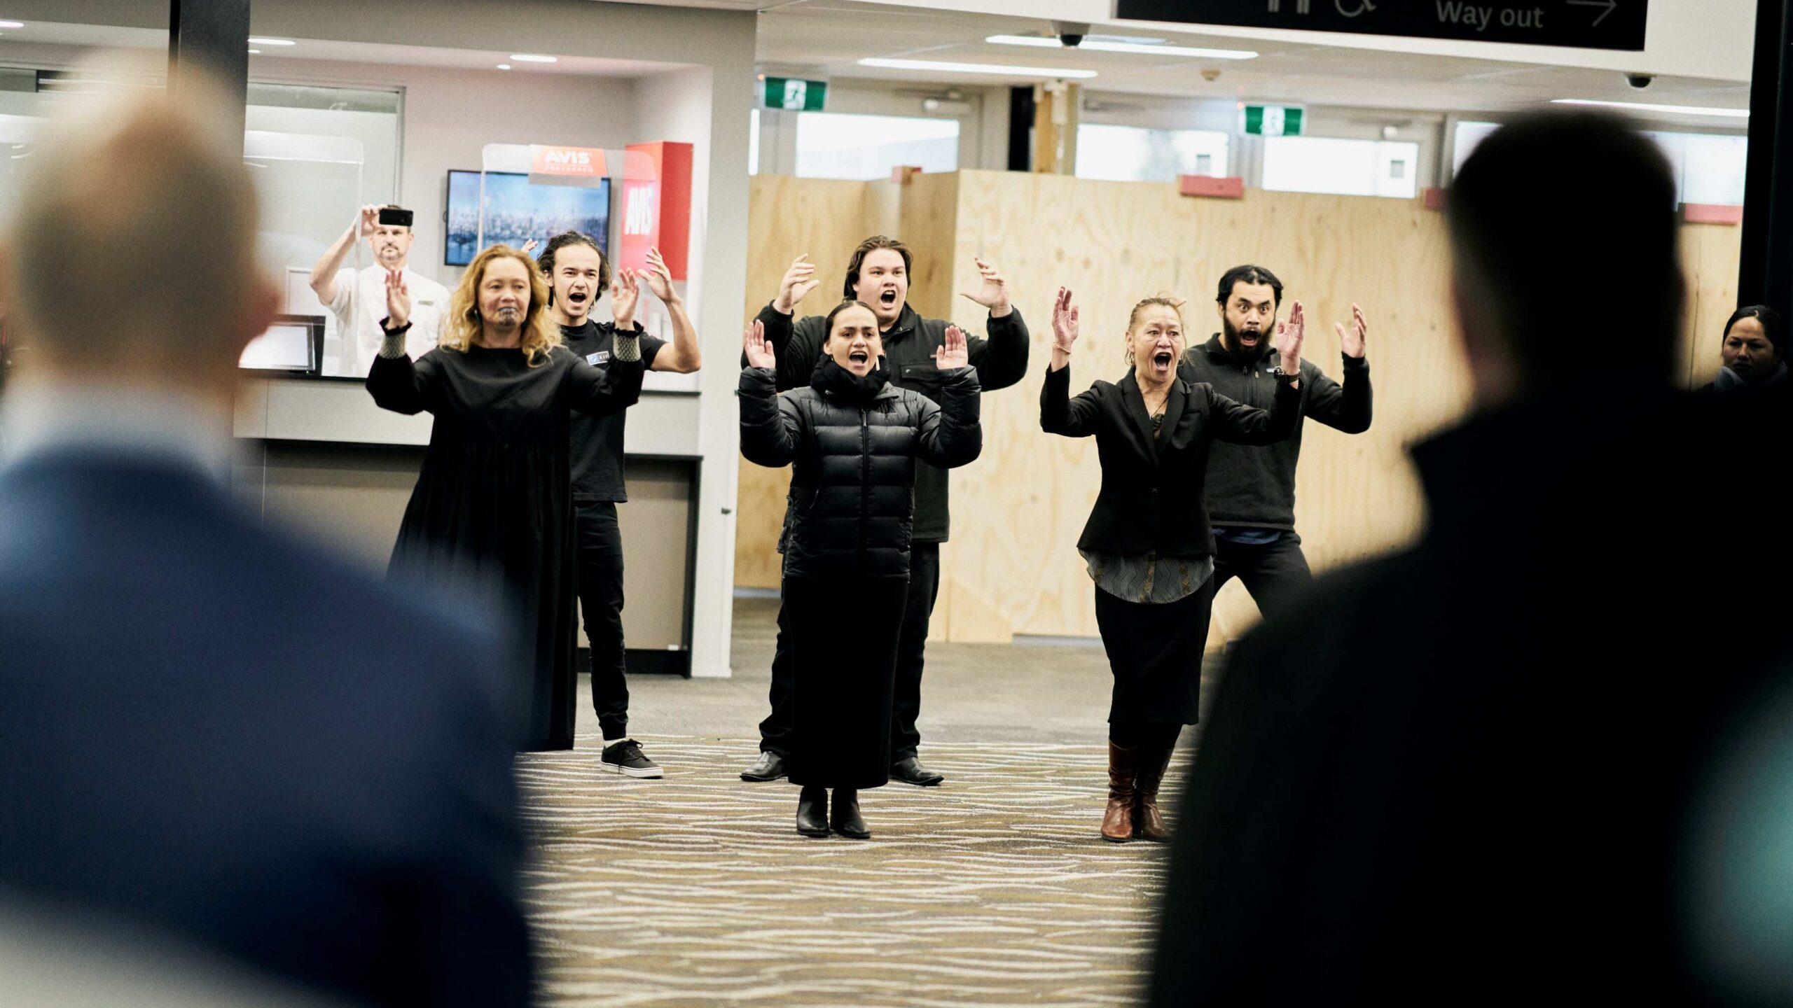
M983 430L977 371L957 326L934 355L938 405L889 384L868 305L841 301L827 334L809 387L780 396L771 343L758 321L748 330L741 454L762 466L796 465L778 543L794 680L791 782L803 787L796 829L828 836L832 825L864 839L859 789L889 780L914 461L963 466L983 448Z

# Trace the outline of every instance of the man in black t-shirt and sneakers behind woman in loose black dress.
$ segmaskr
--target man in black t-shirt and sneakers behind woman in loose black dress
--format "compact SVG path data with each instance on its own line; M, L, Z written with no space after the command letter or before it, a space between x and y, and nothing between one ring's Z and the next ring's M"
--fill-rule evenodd
M525 246L527 253L529 248ZM647 249L642 274L624 269L611 285L610 258L590 235L563 231L541 249L541 276L549 283L549 314L561 341L586 364L606 369L615 355L617 330L640 335L642 364L649 371L689 375L703 364L697 328L672 289L672 273L660 249ZM635 321L640 282L667 307L672 343L647 335ZM611 321L592 319L592 307L610 291ZM629 737L629 680L622 646L622 533L617 504L629 499L622 482L622 423L626 413L572 416L574 540L579 545L579 610L592 642L592 707L604 734L599 764L624 777L663 777L665 771Z

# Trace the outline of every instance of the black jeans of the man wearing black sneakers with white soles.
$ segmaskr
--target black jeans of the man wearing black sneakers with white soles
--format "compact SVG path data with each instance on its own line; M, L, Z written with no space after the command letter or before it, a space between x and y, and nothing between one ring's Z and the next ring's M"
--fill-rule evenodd
M629 734L629 680L622 656L622 533L610 500L576 504L579 610L592 640L592 707L606 739Z

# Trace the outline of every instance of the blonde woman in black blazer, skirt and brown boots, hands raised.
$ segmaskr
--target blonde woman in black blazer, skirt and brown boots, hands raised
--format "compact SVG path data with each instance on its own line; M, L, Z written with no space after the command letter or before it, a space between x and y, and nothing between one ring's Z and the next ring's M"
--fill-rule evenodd
M1096 581L1096 622L1115 676L1108 707L1108 811L1103 838L1167 839L1158 786L1183 725L1196 723L1201 653L1214 604L1214 531L1203 500L1208 445L1269 445L1289 436L1302 407L1302 303L1277 326L1282 366L1268 411L1207 382L1176 377L1183 357L1180 301L1146 298L1126 330L1131 366L1117 384L1070 395L1078 308L1058 289L1052 364L1040 389L1040 427L1096 436L1103 488L1078 552Z

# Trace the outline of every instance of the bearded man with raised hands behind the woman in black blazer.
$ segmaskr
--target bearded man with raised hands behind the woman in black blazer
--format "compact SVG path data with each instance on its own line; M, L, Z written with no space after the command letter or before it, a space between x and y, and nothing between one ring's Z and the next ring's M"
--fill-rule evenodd
M1268 407L1282 307L1282 282L1262 265L1235 265L1221 274L1214 298L1221 332L1191 346L1178 373L1219 395ZM1295 432L1273 445L1217 443L1208 454L1208 518L1214 522L1214 590L1244 581L1264 615L1275 615L1312 579L1302 536L1295 533L1295 466L1302 461L1302 420L1314 418L1347 434L1370 429L1368 323L1352 305L1350 328L1338 325L1345 382L1334 382L1312 361L1302 362L1302 409Z

